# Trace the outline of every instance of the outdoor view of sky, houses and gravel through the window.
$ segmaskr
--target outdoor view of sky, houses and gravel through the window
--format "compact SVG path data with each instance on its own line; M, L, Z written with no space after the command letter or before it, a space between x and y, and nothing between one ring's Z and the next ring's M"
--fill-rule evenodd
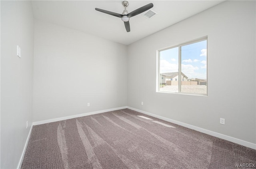
M159 51L159 91L207 95L207 39Z

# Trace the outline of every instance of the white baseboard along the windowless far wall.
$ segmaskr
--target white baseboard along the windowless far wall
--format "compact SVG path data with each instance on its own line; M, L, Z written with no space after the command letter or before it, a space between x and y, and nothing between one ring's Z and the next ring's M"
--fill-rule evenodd
M120 109L126 109L126 108L127 108L127 106L117 107L117 108L113 108L113 109L93 111L93 112L89 112L89 113L82 113L82 114L70 115L70 116L66 116L66 117L59 117L59 118L55 118L55 119L36 121L36 122L33 122L32 125L40 125L40 124L51 123L51 122L55 122L55 121L73 119L73 118L76 118L76 117L82 117L82 116L93 115L93 114L104 113L104 112L108 112L108 111L114 111L114 110L120 110Z

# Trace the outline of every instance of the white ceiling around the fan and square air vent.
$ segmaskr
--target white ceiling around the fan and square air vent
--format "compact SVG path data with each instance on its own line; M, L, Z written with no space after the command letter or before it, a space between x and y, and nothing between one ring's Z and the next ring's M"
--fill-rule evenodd
M223 0L128 0L128 12L153 3L158 13L148 19L142 13L130 18L130 32L126 32L121 18L98 12L95 8L122 14L122 0L32 1L34 18L93 34L121 44L131 44L150 34L202 12Z

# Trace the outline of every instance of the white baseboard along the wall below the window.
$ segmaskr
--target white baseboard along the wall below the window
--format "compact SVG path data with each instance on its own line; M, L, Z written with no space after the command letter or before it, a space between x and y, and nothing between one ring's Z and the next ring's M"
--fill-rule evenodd
M240 140L240 139L236 139L234 137L230 137L228 135L224 135L224 134L220 134L220 133L216 133L214 131L210 131L210 130L207 130L207 129L203 129L203 128L200 128L200 127L196 127L194 125L190 125L190 124L187 124L187 123L182 123L180 121L176 121L176 120L173 120L173 119L168 119L166 117L162 117L160 115L156 115L156 114L153 114L153 113L148 113L146 111L143 111L143 110L140 110L140 109L135 109L133 107L129 107L127 106L128 109L131 109L131 110L134 110L134 111L138 111L140 113L143 113L143 114L146 114L146 115L150 115L152 117L156 117L158 119L162 119L164 121L168 121L168 122L171 122L171 123L174 123L174 124L178 124L178 125L181 125L183 127L187 127L189 129L193 129L193 130L196 130L196 131L200 131L201 133L205 133L205 134L208 134L208 135L212 135L214 137L218 137L220 139L224 139L224 140L228 140L228 141L231 141L233 143L237 143L237 144L240 144L240 145L243 145L245 147L249 147L249 148L252 148L252 149L256 149L256 144L254 143L250 143L248 141L244 141L244 140Z

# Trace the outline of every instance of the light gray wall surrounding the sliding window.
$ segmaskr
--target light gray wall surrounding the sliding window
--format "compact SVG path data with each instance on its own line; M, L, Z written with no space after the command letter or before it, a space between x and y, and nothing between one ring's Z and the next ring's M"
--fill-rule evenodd
M226 1L129 45L128 106L255 144L255 17L255 1ZM156 50L203 36L208 96L156 92Z

